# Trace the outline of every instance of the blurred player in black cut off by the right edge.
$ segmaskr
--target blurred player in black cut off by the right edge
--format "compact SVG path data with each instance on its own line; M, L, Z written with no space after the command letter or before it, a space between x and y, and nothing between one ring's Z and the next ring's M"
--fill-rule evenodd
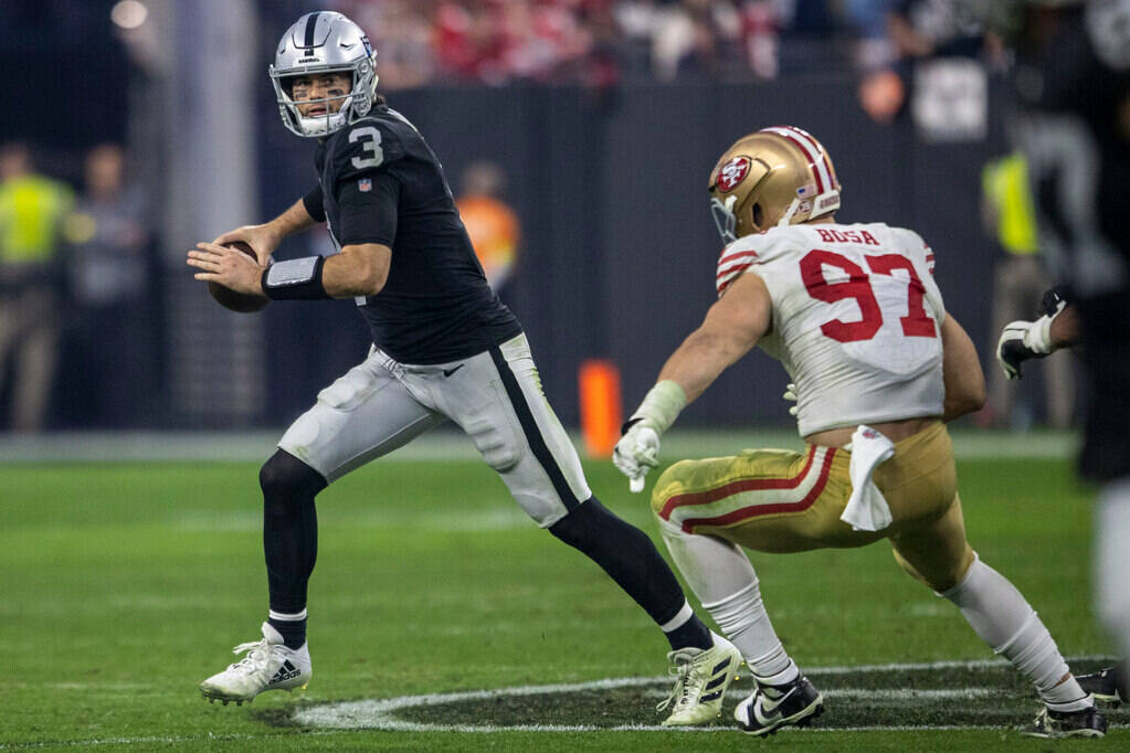
M1009 376L1024 358L1078 344L1089 395L1080 474L1101 484L1095 510L1095 610L1130 653L1130 0L984 3L1016 47L1016 134L1036 200L1041 251L1072 295L1045 296L1044 316L1014 322L998 345ZM1057 336L1063 314L1077 334ZM1017 336L1019 335L1019 336ZM1127 698L1127 664L1079 683ZM1086 733L1080 719L1036 720L1048 736Z

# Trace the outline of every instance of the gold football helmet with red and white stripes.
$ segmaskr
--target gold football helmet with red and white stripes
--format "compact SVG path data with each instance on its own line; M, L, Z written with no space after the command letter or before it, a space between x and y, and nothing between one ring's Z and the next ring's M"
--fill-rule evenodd
M711 213L725 243L840 209L840 181L819 141L792 125L742 137L710 174Z

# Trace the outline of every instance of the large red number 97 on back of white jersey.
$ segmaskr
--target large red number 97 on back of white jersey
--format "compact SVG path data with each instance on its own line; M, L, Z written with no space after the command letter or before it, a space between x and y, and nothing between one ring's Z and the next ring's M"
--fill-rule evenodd
M922 306L925 287L919 279L911 260L899 254L880 254L864 256L867 265L875 274L894 277L895 270L904 270L909 278L906 286L906 316L899 318L903 334L907 338L936 338L935 322ZM824 277L824 268L834 266L847 273L842 282L828 282ZM820 325L820 332L837 342L854 342L870 340L883 327L883 309L871 290L871 281L859 264L846 256L812 249L800 260L800 274L808 295L817 300L832 304L845 298L852 298L859 305L862 317L858 322L832 319Z

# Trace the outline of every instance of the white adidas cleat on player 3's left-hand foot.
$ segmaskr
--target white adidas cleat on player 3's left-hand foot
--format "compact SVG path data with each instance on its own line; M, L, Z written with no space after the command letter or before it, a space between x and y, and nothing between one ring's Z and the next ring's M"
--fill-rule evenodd
M270 625L263 623L263 639L240 643L233 650L245 657L231 665L224 672L215 674L200 683L200 693L212 701L235 701L242 706L255 695L268 690L294 690L305 688L313 674L310 664L310 649L306 643L294 650L282 645L282 636Z

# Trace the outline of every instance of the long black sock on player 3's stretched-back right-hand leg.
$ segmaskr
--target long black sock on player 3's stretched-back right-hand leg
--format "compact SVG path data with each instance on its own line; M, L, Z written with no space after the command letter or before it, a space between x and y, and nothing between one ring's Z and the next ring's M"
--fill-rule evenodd
M683 588L651 539L616 517L596 497L549 526L549 533L588 554L657 623L670 622L683 610L687 601ZM705 646L701 645L703 634ZM710 631L694 616L667 636L675 648L712 646Z

